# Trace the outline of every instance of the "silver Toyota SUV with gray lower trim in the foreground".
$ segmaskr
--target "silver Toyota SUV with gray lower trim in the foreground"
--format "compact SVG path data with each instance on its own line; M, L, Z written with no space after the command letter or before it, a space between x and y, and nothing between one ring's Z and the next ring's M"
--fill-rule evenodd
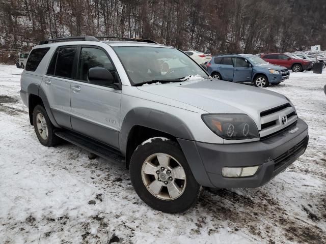
M182 212L202 187L255 188L306 150L308 126L268 90L212 79L184 52L149 40L46 40L21 76L44 146L61 139L125 158L139 197Z

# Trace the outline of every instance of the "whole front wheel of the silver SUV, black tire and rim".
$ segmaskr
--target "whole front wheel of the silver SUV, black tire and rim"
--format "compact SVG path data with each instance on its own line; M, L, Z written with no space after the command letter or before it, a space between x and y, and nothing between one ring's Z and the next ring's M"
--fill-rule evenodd
M195 206L201 186L179 145L166 138L150 141L139 145L130 159L130 179L138 196L150 207L170 214Z

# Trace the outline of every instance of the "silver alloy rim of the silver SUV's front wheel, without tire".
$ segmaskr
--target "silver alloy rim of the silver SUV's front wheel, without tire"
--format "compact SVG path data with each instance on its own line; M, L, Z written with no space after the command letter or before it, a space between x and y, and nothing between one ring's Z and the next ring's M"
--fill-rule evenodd
M146 189L161 200L174 200L182 195L186 175L181 164L168 154L149 156L142 166L142 180Z

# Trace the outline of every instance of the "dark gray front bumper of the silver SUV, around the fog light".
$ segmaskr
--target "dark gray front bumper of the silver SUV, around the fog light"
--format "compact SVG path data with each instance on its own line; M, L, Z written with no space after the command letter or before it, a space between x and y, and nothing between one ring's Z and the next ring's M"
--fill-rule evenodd
M304 154L308 140L308 126L300 118L286 130L255 142L191 144L178 139L198 183L215 188L256 188L266 184ZM250 177L222 176L223 167L258 165L257 172Z

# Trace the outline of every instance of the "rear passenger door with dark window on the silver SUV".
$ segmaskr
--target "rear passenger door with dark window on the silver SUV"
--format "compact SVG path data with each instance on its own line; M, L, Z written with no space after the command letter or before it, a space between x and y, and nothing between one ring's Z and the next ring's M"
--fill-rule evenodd
M61 46L53 53L42 88L57 123L71 129L70 82L76 63L77 46Z

